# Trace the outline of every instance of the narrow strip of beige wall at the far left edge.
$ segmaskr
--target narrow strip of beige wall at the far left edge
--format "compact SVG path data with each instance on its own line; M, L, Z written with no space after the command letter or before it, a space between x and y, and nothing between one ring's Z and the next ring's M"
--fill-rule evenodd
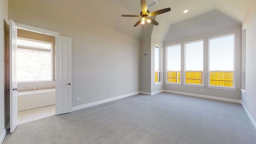
M8 95L5 74L5 52L8 47L8 0L0 0L0 143L8 123Z

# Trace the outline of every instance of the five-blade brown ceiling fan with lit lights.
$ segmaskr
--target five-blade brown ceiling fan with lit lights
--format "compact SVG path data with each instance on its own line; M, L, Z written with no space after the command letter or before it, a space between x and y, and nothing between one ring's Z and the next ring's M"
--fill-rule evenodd
M140 12L140 16L139 15L122 15L125 17L141 17L141 19L136 22L136 24L134 25L134 27L138 26L139 24L145 24L146 22L152 23L154 25L158 25L159 23L156 22L156 20L149 18L151 16L156 16L158 14L163 14L165 12L169 12L171 11L171 8L164 8L162 10L157 10L155 12L150 13L149 10L147 10L147 4L146 4L146 0L140 0L140 6L141 6L141 12Z

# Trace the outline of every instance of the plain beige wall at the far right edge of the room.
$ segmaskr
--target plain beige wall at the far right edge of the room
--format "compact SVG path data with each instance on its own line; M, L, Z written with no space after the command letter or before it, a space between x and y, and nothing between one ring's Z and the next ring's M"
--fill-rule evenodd
M246 26L246 60L245 60L245 89L246 96L242 102L256 120L256 1L254 0L246 14L243 27ZM255 124L255 123L254 123ZM256 125L254 125L256 126Z

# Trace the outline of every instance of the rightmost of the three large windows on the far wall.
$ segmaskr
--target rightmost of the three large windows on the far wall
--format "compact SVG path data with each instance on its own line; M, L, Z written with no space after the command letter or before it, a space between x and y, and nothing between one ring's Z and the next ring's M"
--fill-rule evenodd
M235 35L209 39L210 86L233 87Z

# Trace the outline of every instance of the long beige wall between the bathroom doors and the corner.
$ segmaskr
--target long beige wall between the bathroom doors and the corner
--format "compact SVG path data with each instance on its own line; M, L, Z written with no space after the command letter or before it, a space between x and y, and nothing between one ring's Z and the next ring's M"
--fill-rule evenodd
M90 2L99 9L122 9L112 2ZM72 38L72 106L140 90L140 40L109 27L104 23L108 16L96 18L101 14L101 10L87 12L74 1L9 0L9 18L14 22Z

